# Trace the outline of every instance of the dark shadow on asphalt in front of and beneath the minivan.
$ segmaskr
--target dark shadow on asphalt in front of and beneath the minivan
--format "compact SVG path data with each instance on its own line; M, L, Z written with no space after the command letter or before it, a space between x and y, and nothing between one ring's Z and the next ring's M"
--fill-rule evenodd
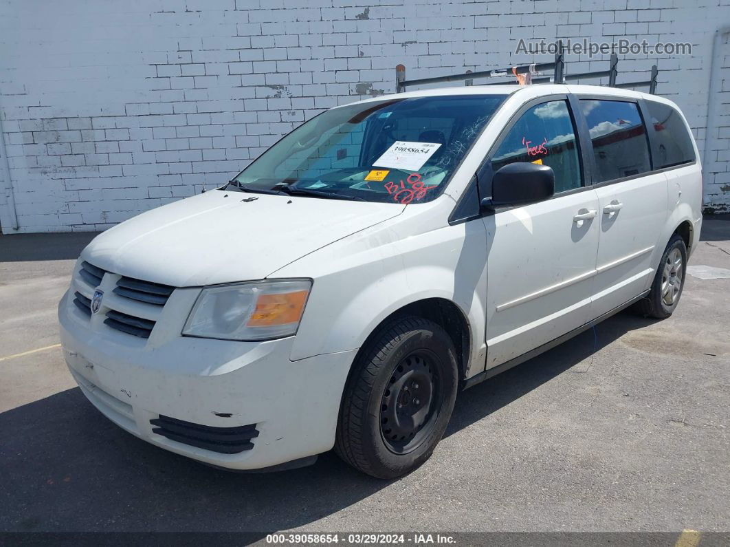
M600 324L596 339L585 332L461 392L447 436L649 322L622 313ZM358 473L332 453L312 467L280 473L205 467L123 432L79 389L0 414L0 431L4 530L219 530L264 537L337 513L392 483Z

